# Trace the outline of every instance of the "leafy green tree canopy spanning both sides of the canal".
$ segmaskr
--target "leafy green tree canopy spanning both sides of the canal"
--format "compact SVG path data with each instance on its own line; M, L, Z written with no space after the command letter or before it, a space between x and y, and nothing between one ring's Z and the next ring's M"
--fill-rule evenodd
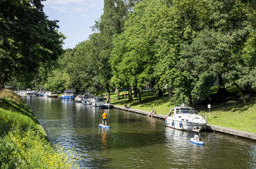
M126 88L132 101L133 88L134 97L138 93L141 101L141 90L153 84L159 96L163 89L168 90L172 105L192 105L195 99L209 99L213 85L219 92L235 86L246 104L244 93L256 89L253 0L104 0L104 12L92 26L96 32L63 55L58 46L63 37L55 30L57 21L47 20L39 1L4 2L7 6L23 5L33 12L36 9L38 23L25 29L17 19L21 16L4 9L0 54L2 61L10 59L1 67L1 77L3 73L15 75L21 71L17 65L22 65L18 63L25 58L28 60L22 68L29 70L26 65L38 68L38 63L59 55L55 65L51 64L54 71L38 69L44 81L48 72L47 89L101 92L104 88L109 100L110 89L119 92ZM14 30L23 28L25 35L29 33L23 38L30 48L24 46L19 34L11 34L12 26ZM50 40L55 46L48 46Z

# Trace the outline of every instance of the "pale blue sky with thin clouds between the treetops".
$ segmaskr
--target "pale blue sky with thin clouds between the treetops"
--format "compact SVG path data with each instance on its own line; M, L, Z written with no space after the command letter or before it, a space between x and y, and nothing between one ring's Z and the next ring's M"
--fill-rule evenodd
M74 48L94 32L90 26L103 14L104 0L46 0L43 11L48 19L59 20L59 32L67 37L63 48Z

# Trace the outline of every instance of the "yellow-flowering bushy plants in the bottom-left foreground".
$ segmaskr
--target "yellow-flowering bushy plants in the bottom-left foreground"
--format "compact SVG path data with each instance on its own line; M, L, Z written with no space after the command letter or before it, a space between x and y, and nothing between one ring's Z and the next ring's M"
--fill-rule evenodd
M0 139L0 168L65 168L79 167L73 151L53 147L35 131L9 132Z

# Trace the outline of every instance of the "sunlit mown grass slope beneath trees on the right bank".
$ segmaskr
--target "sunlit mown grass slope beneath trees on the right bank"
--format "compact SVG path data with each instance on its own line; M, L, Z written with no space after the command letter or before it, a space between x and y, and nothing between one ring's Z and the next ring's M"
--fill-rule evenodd
M197 104L194 107L200 114L207 116L209 124L256 133L256 96L247 95L248 103L244 106L240 97L234 94L236 93L234 88L230 88L228 91L233 93L233 97L229 97L222 102L211 102L210 118L209 109L207 108L208 103ZM144 91L141 104L139 104L138 98L133 98L132 102L128 102L128 97L122 97L123 93L120 93L119 101L116 101L116 93L111 93L111 103L118 106L128 104L134 109L145 111L150 111L150 107L153 107L158 114L164 115L168 115L169 110L177 106L169 105L167 93L164 97L158 97L155 91ZM216 91L213 91L214 93Z

